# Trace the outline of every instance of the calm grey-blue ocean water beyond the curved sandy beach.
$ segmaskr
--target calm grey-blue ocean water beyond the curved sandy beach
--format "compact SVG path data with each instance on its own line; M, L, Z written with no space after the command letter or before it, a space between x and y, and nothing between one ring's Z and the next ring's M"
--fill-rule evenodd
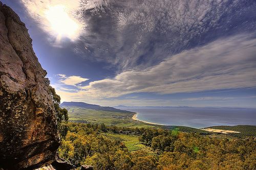
M137 112L144 122L205 128L210 126L256 125L256 109L241 108L123 108Z

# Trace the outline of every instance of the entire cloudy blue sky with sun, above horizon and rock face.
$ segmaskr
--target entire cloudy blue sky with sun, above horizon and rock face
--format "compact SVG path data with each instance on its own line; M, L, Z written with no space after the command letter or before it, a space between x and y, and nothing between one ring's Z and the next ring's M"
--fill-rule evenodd
M61 101L256 108L254 0L2 0Z

